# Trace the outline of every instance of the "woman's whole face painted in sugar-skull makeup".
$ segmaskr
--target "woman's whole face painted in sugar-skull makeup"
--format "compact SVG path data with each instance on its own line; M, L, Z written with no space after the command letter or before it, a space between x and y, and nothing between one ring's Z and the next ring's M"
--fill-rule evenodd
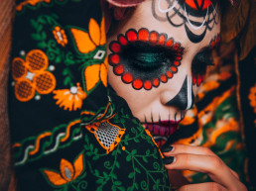
M219 29L209 0L146 0L108 38L108 82L154 136L174 134L192 107Z

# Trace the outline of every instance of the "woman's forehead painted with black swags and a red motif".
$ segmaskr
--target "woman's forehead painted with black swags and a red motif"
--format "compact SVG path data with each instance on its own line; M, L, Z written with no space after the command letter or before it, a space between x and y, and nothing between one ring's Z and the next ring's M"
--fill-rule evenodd
M211 1L147 0L141 3L120 33L146 28L165 33L184 47L207 47L220 29L216 4ZM118 34L117 34L118 35Z

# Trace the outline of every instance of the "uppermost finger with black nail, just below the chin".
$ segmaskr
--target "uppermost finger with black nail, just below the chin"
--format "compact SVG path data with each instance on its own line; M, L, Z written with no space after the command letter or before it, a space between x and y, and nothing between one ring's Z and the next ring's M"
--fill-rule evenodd
M193 153L193 154L201 154L201 155L216 155L213 151L211 151L208 147L204 146L195 146L195 145L186 145L186 144L172 144L169 147L164 147L162 152L166 156L170 156L173 154L179 153Z

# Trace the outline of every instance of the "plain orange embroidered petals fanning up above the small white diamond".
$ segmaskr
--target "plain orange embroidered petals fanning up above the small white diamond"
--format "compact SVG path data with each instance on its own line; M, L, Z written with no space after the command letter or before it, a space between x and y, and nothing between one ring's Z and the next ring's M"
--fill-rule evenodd
M106 43L104 18L102 18L100 27L94 19L90 19L89 33L74 28L71 28L70 31L76 47L81 53L88 53Z

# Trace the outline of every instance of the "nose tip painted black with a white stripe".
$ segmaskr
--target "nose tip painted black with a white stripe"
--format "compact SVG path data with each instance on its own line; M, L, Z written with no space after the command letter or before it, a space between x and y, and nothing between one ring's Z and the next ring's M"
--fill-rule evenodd
M188 110L192 107L193 102L194 102L194 95L192 92L192 80L190 82L189 77L187 75L179 93L170 101L165 103L165 105L175 106L180 110Z

